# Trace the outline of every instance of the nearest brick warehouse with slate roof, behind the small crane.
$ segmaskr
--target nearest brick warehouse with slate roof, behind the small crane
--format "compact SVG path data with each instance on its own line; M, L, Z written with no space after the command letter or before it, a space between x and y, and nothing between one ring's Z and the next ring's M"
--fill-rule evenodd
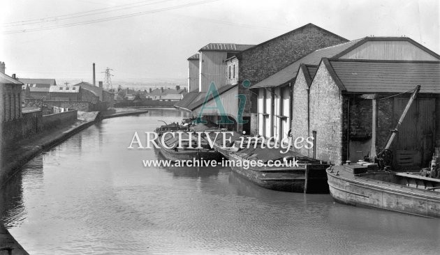
M409 93L397 94L416 84L422 88L390 149L395 165L426 166L440 145L439 61L323 59L309 88L309 130L294 123L293 129L315 137L311 157L334 164L360 160L371 155L372 144L385 146L409 99Z

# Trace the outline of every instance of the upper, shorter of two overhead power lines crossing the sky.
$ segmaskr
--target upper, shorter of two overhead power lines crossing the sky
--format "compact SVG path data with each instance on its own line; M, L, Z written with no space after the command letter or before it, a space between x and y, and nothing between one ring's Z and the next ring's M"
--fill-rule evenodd
M152 1L152 0L149 0L149 1ZM149 6L149 5L156 4L156 3L163 3L166 1L174 1L174 0L163 0L163 1L157 1L154 3L145 3L145 1L140 1L140 2L136 2L136 3L126 3L121 6L112 6L112 7L101 8L101 9L96 9L96 10L87 10L87 11L80 12L80 13L71 13L71 14L59 15L59 16L53 16L53 17L43 17L43 18L38 18L38 19L34 19L34 20L23 20L23 21L19 21L19 22L8 22L8 23L5 23L3 26L24 26L24 25L29 25L29 24L33 25L33 24L39 24L39 23L45 23L45 22L59 22L61 20L70 20L70 19L74 19L77 17L87 17L90 15L110 13L110 12L114 12L117 10L126 10L126 9L131 9L131 8L138 8L141 6ZM139 4L139 3L142 3L142 4ZM134 4L138 4L138 5L132 6ZM124 7L124 6L129 6L129 7ZM122 7L124 7L124 8L122 8ZM113 9L115 9L115 10L113 10ZM101 11L101 10L104 10L104 11Z

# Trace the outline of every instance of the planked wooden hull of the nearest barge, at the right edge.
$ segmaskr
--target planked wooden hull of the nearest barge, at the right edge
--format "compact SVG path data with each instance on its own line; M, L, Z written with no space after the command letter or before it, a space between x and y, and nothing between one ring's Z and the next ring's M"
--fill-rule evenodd
M356 177L342 167L327 169L333 199L353 206L368 206L425 217L440 217L440 193L395 183Z

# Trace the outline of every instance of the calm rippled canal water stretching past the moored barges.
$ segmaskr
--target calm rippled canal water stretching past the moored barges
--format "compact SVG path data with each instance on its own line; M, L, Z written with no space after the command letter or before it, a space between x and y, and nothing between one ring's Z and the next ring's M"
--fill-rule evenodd
M437 254L440 220L258 187L228 168L147 168L133 133L182 113L110 118L31 160L0 196L30 254Z

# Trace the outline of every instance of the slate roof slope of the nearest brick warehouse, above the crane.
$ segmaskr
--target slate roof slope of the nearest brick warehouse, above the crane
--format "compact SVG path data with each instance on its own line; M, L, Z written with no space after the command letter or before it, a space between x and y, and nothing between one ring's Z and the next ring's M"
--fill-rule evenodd
M440 61L323 59L323 63L346 92L402 93L420 84L420 93L440 93Z

